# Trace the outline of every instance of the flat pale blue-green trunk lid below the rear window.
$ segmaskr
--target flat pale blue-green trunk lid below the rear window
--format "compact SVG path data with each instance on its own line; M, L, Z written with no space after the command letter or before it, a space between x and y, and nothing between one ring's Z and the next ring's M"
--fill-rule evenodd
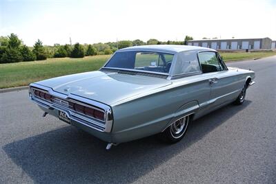
M169 80L161 78L103 71L78 73L35 83L65 95L72 93L104 104L113 104L171 84Z

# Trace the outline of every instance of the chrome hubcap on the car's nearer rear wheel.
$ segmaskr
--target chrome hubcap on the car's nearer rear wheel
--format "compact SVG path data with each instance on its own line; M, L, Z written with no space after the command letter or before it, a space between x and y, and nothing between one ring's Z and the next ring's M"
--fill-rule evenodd
M173 122L170 126L170 133L172 137L175 139L181 137L188 126L188 116L182 117L181 119L178 119L177 121Z

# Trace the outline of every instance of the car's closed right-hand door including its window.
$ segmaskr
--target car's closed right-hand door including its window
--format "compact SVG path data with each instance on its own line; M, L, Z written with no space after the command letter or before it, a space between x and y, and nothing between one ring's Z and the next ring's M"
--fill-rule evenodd
M221 57L215 51L202 51L198 54L203 76L210 84L208 108L213 110L237 97L237 79L228 71Z

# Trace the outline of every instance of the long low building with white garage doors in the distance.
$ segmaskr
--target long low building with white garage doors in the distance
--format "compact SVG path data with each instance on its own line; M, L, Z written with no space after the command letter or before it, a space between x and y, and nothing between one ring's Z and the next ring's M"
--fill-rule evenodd
M270 38L244 38L244 39L203 39L188 41L188 45L208 47L217 50L239 49L275 49L275 41Z

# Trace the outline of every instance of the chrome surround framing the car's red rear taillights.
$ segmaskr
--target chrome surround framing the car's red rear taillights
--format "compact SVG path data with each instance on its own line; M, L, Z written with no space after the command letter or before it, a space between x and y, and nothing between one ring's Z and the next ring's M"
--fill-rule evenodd
M34 93L32 91L32 87L39 91L43 91L44 93L48 93L54 97L59 97L61 100L67 100L69 102L74 102L77 104L81 104L83 106L88 106L90 108L94 108L98 111L101 111L104 113L104 121L101 119L95 119L93 117L88 117L87 115L84 115L83 113L78 113L66 106L61 106L60 104L48 102L46 100L42 100L39 97L35 97ZM107 106L106 104L101 104L100 102L96 102L94 100L89 100L84 97L80 97L78 95L70 94L70 95L64 95L61 93L57 93L53 91L51 88L41 86L39 84L30 84L29 88L29 97L32 102L38 104L39 106L42 106L44 108L55 108L59 111L63 111L64 113L68 114L68 117L70 119L74 120L75 122L79 122L80 124L89 126L90 128L94 128L96 130L99 130L101 132L107 132L110 133L112 130L112 124L113 124L113 117L112 117L112 109L110 106ZM85 103L85 104L84 104ZM91 104L91 106L89 105ZM99 108L97 108L99 107ZM82 120L82 121L81 121Z

